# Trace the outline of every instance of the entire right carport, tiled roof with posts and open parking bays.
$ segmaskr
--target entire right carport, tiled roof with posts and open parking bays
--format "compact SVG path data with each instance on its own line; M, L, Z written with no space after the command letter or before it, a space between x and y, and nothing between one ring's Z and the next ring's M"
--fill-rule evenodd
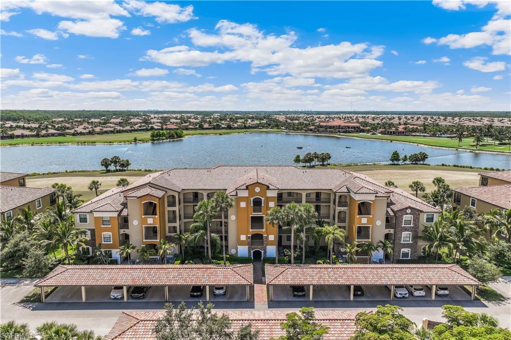
M481 284L455 264L265 264L265 272L269 301L354 300L356 285L363 287L365 300L393 300L399 285L421 285L431 300L438 298L438 286L453 287L453 298L440 297L451 300L468 297L464 286L470 286L474 300ZM293 298L290 286L296 285L305 286L306 297Z

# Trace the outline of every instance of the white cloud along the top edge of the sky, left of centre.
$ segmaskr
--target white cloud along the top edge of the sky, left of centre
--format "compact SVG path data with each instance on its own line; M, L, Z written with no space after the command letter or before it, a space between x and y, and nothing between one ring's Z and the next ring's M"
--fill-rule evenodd
M193 15L193 6L181 7L179 5L161 2L143 2L128 0L124 8L132 13L143 16L154 16L159 23L176 23L196 19Z

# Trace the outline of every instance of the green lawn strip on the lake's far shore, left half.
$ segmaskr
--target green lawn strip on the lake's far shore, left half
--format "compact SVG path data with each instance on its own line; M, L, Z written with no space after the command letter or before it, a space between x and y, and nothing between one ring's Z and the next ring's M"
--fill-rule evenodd
M277 132L278 129L260 130L260 129L233 129L233 130L190 130L184 131L185 136L192 135L225 135L231 133L244 132ZM5 139L1 145L25 145L25 144L79 144L79 143L126 143L132 142L133 138L144 142L150 140L150 131L128 132L128 133L112 133L104 135L85 135L85 136L61 136L61 137L34 137L34 138L16 138Z

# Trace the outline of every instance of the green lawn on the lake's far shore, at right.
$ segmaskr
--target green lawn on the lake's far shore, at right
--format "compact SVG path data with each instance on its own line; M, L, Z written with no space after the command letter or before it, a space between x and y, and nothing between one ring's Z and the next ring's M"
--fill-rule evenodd
M381 140L393 140L393 141L404 141L410 143L424 144L431 147L444 147L444 148L455 148L455 149L470 149L476 150L473 138L464 138L458 147L458 141L454 138L440 138L440 137L422 137L422 136L390 136L390 135L369 135L365 133L348 133L341 134L347 137L359 137L365 139L381 139ZM499 151L508 152L509 145L493 145L492 142L483 142L479 145L477 150L482 151Z

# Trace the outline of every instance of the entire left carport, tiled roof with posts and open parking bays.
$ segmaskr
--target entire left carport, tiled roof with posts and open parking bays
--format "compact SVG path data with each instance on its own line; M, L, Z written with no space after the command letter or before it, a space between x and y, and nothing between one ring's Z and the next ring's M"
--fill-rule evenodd
M144 301L190 300L191 286L203 286L206 301L249 301L253 268L252 264L59 265L35 286L41 290L41 302L46 301L45 287L57 287L48 302L111 301L114 286L123 287L124 301L138 301L129 296L133 286L151 287ZM225 286L226 295L214 297L214 286Z

